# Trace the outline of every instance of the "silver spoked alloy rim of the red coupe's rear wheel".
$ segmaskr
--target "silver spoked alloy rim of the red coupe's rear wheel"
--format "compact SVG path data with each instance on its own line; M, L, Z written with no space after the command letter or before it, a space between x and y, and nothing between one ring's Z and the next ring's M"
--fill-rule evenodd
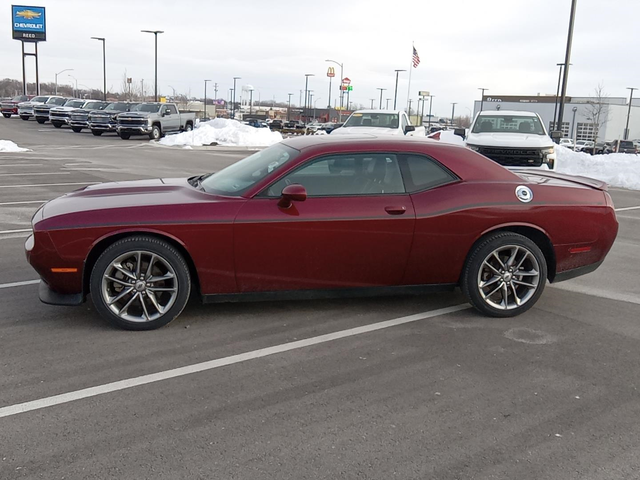
M534 296L540 282L540 265L528 249L505 245L495 249L478 271L478 291L490 306L513 310Z

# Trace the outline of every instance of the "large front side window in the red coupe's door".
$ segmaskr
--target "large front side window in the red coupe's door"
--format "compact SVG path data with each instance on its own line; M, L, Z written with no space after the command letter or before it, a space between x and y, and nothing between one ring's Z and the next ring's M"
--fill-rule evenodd
M304 186L310 197L405 192L398 159L387 153L332 155L312 160L271 185L266 196L279 197L282 189L293 183Z

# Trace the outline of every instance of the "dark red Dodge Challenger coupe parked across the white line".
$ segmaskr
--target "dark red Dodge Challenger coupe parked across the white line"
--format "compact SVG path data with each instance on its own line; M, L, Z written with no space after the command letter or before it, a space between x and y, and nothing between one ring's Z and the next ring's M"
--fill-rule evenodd
M425 293L460 286L497 317L546 280L592 272L616 238L606 185L510 171L424 139L286 140L214 174L92 185L33 217L40 299L91 293L116 325L205 302Z

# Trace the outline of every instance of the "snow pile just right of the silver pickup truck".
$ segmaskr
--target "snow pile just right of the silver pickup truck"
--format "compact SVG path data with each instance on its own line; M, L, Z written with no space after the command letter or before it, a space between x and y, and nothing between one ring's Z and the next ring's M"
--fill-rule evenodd
M200 122L191 132L168 135L160 142L162 145L224 145L239 147L268 147L282 140L280 132L268 128L254 128L236 120L216 118Z

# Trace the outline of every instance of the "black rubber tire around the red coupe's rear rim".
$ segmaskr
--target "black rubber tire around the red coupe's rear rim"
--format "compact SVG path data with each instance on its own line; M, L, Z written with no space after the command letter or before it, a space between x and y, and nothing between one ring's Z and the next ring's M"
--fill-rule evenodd
M493 262L493 252L500 249L509 251L510 247L517 247L511 251L520 252L520 257L514 258L511 266L509 266L507 259L503 258L502 260L504 265L509 268L506 268L504 271L501 269L496 271L494 269L493 272L490 272L490 270L487 269L488 266L485 267L485 260L491 260ZM523 260L524 264L522 264L523 266L520 269L513 267L514 264L519 262L518 258L523 258L525 256L524 252L528 252L533 258L531 256L527 256L525 260ZM499 256L500 254L498 254L498 257ZM516 265L516 267L517 266L518 265ZM531 266L530 270L526 270L528 266ZM531 277L529 273L536 271L536 268L538 268L537 279ZM511 273L514 269L515 272ZM518 271L522 271L522 274L518 274ZM492 290L493 285L500 287L506 283L506 286L502 287L507 291L506 301L504 300L502 288L499 293L495 293L495 295L500 294L502 299L500 305L504 302L505 307L498 308L495 305L495 301L492 300L492 296L487 295L490 292L484 292L484 294L481 293L482 289L480 288L480 279L485 275L485 272L490 272L490 274L493 275L493 278L485 279L489 284L492 280L498 278L496 283L492 284L491 287L484 287L487 288L487 290ZM531 280L528 280L529 278L531 278ZM521 282L523 281L531 283L522 284ZM531 239L524 235L513 232L498 232L481 239L473 247L462 272L460 288L462 289L462 293L464 293L469 300L469 303L471 303L471 305L473 305L479 312L491 317L515 317L516 315L520 315L533 307L540 298L540 295L542 295L546 281L547 262L540 248ZM528 285L528 287L522 285ZM519 306L507 308L506 305L509 304L509 298L511 297L515 302L516 297L518 297L516 292L522 294L523 291L527 292L526 295L523 295L523 298L526 298L526 301L524 301L522 305L519 305L519 303L516 302L516 305ZM487 296L483 298L483 295ZM518 297L518 299L520 298Z

